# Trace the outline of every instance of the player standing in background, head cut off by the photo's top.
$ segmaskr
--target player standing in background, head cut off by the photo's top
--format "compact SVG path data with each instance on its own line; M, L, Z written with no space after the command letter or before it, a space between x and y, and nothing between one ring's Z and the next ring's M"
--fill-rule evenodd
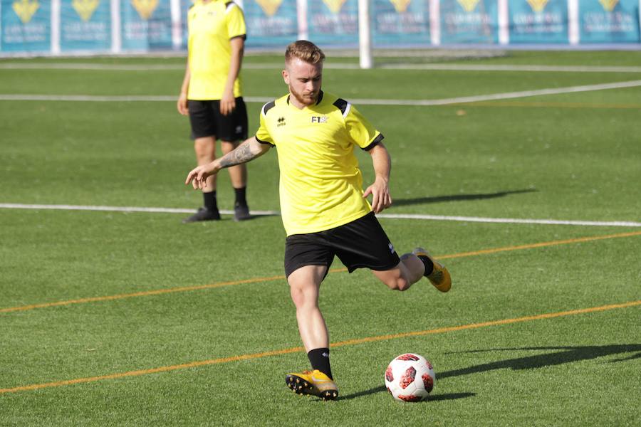
M229 0L196 0L187 12L189 42L187 68L177 102L178 112L189 115L198 164L216 158L216 141L231 152L247 137L247 112L242 97L240 69L246 28L243 11ZM248 219L247 169L229 169L234 186L234 219ZM216 176L202 188L204 207L183 222L220 219Z

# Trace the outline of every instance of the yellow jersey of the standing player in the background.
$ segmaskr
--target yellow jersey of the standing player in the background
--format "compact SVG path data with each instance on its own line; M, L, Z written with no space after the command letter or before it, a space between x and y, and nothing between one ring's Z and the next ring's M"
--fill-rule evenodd
M229 62L229 40L245 37L243 11L233 1L197 0L187 12L189 26L189 92L190 100L222 98ZM241 79L234 82L234 97L242 96Z

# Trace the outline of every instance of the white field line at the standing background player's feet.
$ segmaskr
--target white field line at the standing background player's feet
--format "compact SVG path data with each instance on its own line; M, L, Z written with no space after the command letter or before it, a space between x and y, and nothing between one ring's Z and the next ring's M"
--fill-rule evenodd
M1 203L0 209L56 209L63 211L105 211L105 212L150 212L155 214L192 214L194 209L174 208L142 208L135 206L81 206L81 205L47 205L47 204L15 204ZM220 211L221 214L232 215L234 211ZM251 211L256 216L280 216L278 211ZM431 221L459 221L480 223L513 223L513 224L545 224L561 226L600 226L600 227L641 227L641 222L635 221L566 221L558 219L530 218L484 218L482 216L442 216L423 214L377 214L379 218L392 219L422 219Z

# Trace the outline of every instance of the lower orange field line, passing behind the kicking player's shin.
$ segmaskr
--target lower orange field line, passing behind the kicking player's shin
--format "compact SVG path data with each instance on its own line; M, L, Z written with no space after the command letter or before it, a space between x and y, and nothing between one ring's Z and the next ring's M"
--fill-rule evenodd
M366 343L366 342L377 342L377 341L383 341L383 340L386 340L386 339L397 339L397 338L405 338L405 337L418 337L418 336L429 335L429 334L443 334L443 333L446 333L446 332L456 332L456 331L461 331L461 330L478 329L480 327L509 325L511 323L530 322L532 320L551 319L553 317L563 317L563 316L570 316L570 315L581 315L581 314L591 313L591 312L601 312L601 311L605 311L605 310L614 310L616 308L633 307L635 305L641 305L641 300L639 300L639 301L630 301L630 302L622 302L621 304L601 305L600 307L590 307L590 308L583 308L583 309L578 309L578 310L568 310L568 311L555 312L555 313L544 313L542 315L515 317L513 319L492 320L490 322L471 323L469 325L440 327L440 328L433 329L433 330L402 332L400 334L379 335L377 337L365 337L365 338L360 338L360 339L348 339L347 341L335 342L333 344L330 344L330 347L345 347L345 346L348 346L348 345L363 344L363 343ZM30 384L28 386L18 386L18 387L12 387L12 388L9 388L9 389L0 389L0 394L15 393L16 391L28 391L28 390L46 389L46 388L49 388L49 387L70 386L72 384L82 384L82 383L88 383L88 382L102 381L102 380L105 380L105 379L119 379L119 378L125 378L127 376L140 376L140 375L147 375L147 374L156 374L158 372L176 371L178 369L189 369L189 368L195 368L195 367L203 367L203 366L212 365L212 364L222 364L222 363L229 363L229 362L237 362L239 360L254 360L254 359L260 359L262 357L280 356L282 354L296 353L296 352L302 352L302 351L303 351L303 347L291 347L291 348L288 348L288 349L272 350L271 352L262 352L262 353L253 353L253 354L241 354L239 356L231 356L231 357L220 357L218 359L201 360L201 361L197 361L197 362L189 362L189 363L177 364L177 365L172 365L172 366L167 366L167 367L158 367L158 368L152 368L152 369L139 369L137 371L127 371L127 372L120 372L120 373L116 373L116 374L100 375L100 376L88 376L86 378L68 379L66 381L53 381L53 382L48 382L48 383L43 383L43 384Z

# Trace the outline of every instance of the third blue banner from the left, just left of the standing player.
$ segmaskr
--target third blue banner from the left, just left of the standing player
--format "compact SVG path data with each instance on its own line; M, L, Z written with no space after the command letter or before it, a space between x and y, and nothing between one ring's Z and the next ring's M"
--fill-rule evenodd
M123 0L120 19L123 51L172 48L170 0Z

